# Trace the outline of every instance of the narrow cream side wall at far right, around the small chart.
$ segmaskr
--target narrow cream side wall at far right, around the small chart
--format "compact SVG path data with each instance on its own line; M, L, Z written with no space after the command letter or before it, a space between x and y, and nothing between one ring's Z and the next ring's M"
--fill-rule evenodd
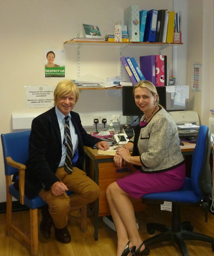
M188 108L197 111L200 124L208 126L214 108L214 0L189 0L188 84L193 64L202 64L202 91L191 91Z

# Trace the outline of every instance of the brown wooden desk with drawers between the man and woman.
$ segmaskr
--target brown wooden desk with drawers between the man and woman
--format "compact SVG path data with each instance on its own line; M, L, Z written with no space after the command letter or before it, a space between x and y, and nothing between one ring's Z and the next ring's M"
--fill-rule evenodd
M195 148L194 143L184 142L184 146L181 146L181 152L183 155L192 155ZM94 205L94 218L95 218L95 240L98 240L98 217L110 215L110 210L108 207L107 198L105 191L107 186L110 183L113 183L115 180L124 177L134 171L132 165L123 166L123 170L117 171L116 165L113 162L113 156L111 155L98 155L97 149L92 149L90 147L85 147L86 152L86 173L92 180L94 180L100 187L100 196L95 201ZM145 210L145 205L140 199L131 198L131 201L134 205L134 210L141 211Z

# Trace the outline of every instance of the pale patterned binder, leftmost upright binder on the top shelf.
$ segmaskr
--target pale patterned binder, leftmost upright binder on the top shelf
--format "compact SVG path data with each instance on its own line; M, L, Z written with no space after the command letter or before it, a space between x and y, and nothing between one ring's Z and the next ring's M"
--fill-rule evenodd
M124 23L127 25L130 42L140 41L139 8L140 7L138 5L131 5L124 11Z

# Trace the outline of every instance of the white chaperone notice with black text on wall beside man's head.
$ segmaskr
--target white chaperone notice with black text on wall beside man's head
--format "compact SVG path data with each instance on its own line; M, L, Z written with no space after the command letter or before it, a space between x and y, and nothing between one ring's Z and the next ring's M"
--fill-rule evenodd
M25 86L26 107L53 107L55 87L52 85Z

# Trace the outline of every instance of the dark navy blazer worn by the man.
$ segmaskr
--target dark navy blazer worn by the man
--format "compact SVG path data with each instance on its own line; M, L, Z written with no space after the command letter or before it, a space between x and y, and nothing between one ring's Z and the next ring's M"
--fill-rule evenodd
M84 146L93 147L100 140L87 134L80 116L73 111L71 121L78 136L79 157L77 168L83 169ZM33 198L42 189L49 190L53 183L59 181L55 173L62 157L62 141L55 107L33 119L30 139L29 158L26 162L25 195Z

